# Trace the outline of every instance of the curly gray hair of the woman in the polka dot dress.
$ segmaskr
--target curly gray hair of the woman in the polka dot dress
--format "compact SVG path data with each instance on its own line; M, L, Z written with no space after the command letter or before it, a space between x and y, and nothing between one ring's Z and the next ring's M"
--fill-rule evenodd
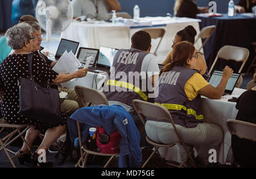
M19 23L9 28L6 33L7 45L13 49L22 49L24 42L32 38L32 28L26 23Z

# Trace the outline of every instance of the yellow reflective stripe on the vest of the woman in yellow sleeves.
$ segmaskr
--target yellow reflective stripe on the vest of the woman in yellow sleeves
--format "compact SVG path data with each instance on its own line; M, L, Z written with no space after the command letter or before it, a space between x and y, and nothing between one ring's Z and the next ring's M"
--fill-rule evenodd
M204 119L204 115L197 115L195 110L187 109L187 107L185 107L183 105L176 105L176 104L170 104L170 103L160 104L160 103L156 103L156 102L155 102L155 104L164 106L168 110L179 110L180 111L181 109L183 109L184 111L187 111L188 115L193 115L198 120Z

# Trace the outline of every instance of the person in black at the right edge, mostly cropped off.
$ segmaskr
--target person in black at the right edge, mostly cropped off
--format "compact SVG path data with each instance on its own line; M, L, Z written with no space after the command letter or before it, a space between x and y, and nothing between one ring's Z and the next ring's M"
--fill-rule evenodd
M254 74L254 80L256 73ZM237 120L256 124L256 86L245 91L237 99L236 109L238 113ZM241 139L236 135L232 135L232 151L234 161L242 167L256 167L256 141Z

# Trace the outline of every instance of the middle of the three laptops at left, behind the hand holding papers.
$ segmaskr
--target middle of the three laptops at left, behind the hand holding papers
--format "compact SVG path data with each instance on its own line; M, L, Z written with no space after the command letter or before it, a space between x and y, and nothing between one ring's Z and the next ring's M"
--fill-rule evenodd
M86 59L90 56L93 56L94 59L90 61L90 64L89 64L89 67L91 67L96 65L96 61L98 59L98 53L99 53L99 49L80 47L76 57L81 64L85 64Z

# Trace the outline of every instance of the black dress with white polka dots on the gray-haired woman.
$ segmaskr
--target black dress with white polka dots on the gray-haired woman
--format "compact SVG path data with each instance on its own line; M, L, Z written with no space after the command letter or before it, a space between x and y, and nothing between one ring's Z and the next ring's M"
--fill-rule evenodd
M53 82L58 76L58 73L51 70L38 54L32 57L32 74L34 80L41 85L45 81ZM60 124L43 123L18 114L19 86L17 80L21 77L28 78L28 55L9 55L0 65L0 90L4 91L1 112L5 121L10 124L32 124L39 131L64 125L67 122L67 115L64 113L62 114L63 122Z

